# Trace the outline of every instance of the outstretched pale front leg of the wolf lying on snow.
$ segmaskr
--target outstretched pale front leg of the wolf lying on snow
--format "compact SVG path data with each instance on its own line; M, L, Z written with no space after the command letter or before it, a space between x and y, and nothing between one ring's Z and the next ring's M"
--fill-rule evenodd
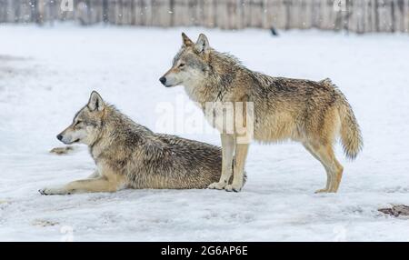
M71 182L62 187L51 187L39 190L42 195L71 195L79 193L115 192L118 184L105 177Z

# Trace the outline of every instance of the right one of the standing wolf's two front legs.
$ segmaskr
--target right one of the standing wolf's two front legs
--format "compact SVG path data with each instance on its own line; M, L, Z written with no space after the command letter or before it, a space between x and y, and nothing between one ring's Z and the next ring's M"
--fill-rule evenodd
M224 189L228 192L239 192L243 187L244 165L247 157L249 144L236 144L234 154L233 183L226 185Z

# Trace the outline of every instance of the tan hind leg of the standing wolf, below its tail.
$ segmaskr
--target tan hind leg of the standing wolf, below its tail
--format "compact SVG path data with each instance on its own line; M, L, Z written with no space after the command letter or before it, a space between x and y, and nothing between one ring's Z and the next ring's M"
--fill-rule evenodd
M341 183L344 167L336 160L333 147L331 145L311 145L307 143L303 145L315 159L324 165L327 175L324 189L319 189L315 193L336 193Z

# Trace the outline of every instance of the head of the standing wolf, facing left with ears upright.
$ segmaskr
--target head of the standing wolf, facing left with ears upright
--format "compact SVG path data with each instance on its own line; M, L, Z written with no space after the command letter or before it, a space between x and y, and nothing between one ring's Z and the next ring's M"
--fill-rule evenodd
M211 48L204 34L200 34L196 43L182 33L183 45L175 55L172 67L159 81L167 86L194 85L205 79L210 70L209 55Z

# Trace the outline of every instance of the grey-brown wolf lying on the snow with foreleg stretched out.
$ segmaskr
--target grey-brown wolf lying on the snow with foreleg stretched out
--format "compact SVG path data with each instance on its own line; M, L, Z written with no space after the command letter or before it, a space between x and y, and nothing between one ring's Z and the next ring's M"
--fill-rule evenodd
M220 147L155 134L92 92L58 140L88 145L96 165L88 178L39 190L42 195L115 192L123 188L206 188L218 180Z

